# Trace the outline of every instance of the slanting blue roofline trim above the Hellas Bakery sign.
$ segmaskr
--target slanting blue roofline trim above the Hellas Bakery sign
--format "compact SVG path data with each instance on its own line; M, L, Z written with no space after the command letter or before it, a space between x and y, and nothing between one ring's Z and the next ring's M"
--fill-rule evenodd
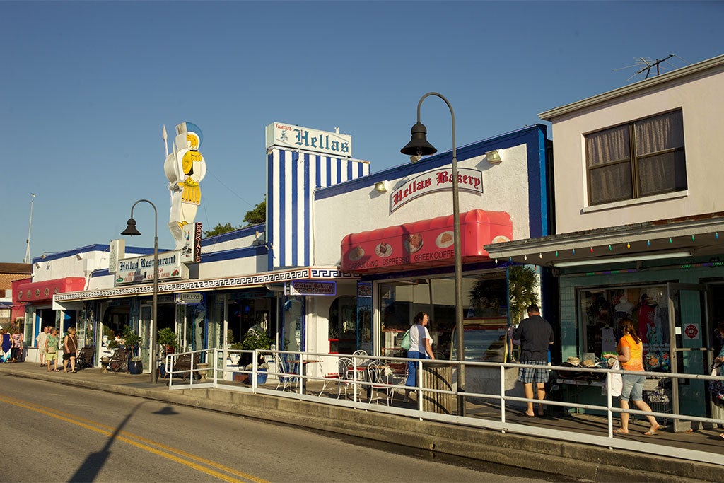
M539 143L539 133L542 131L542 136L544 138L546 130L547 127L545 125L536 124L511 131L510 133L497 135L493 138L479 140L466 146L460 146L456 149L458 161L460 161L460 159L465 160L475 156L481 156L492 149L505 149L517 146L518 144L521 144L521 138L531 137L531 141ZM542 143L541 149L544 152L545 143ZM378 181L416 175L450 163L452 163L452 149L433 156L428 156L414 164L401 164L399 166L383 169L380 172L370 173L369 175L358 177L355 180L340 182L337 185L332 185L327 188L319 188L314 192L314 199L321 200L324 198L332 198L333 196L337 196L342 193L348 193L366 186L374 185L374 183Z

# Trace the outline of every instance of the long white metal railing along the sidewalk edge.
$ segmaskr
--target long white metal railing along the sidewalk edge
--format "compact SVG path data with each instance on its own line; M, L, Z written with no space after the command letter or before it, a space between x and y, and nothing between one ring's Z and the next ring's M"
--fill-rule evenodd
M237 353L248 354L251 356L252 362L250 369L245 369L245 367L227 364L229 356ZM197 354L198 356L195 356ZM271 361L277 359L277 361L282 361L283 364L287 364L287 362L290 362L291 364L289 364L288 367L285 366L281 368L278 367L277 364L271 364L269 366L269 369L266 371L266 376L271 379L271 382L267 381L266 384L259 385L258 376L260 374L260 370L258 368L258 361L260 356L264 356L266 359L271 359ZM185 364L185 366L174 369L174 367L176 367L176 362L182 357L188 358L190 364ZM203 363L195 361L196 357L198 357L198 361L206 361L206 364L209 364L209 366L199 367L199 364ZM342 379L337 372L337 360L342 357L351 358L353 361L352 370L344 379ZM405 386L403 372L396 375L396 379L399 380L395 381L393 379L394 383L387 384L375 382L374 386L378 388L390 388L395 392L400 392L404 390L411 390L411 392L416 392L418 395L416 408L382 406L381 404L365 402L366 400L368 400L368 398L364 398L365 400L361 400L360 395L363 391L370 390L371 386L373 385L373 383L367 379L365 371L363 370L363 368L366 366L367 363L369 363L369 361L381 361L387 366L390 366L390 364L392 364L396 365L397 367L404 367L403 364L413 362L413 364L417 365L418 374L423 374L424 368L426 366L429 368L430 364L435 364L437 366L450 366L450 373L452 374L450 389L445 390L435 387L424 387L424 377L417 378L416 386ZM319 368L321 369L325 366L325 363L327 363L327 367L334 368L334 371L329 371L329 373L327 373L323 370L321 371L321 374L312 375L308 374L308 372L311 371L305 370L305 367L309 364L313 364L313 366L319 366ZM500 386L497 388L497 391L490 393L470 392L469 390L466 390L464 392L458 391L455 379L457 377L457 368L458 366L460 366L460 364L463 364L465 366L466 371L470 371L471 368L476 367L487 368L490 370L490 372L498 371L500 377ZM258 394L274 395L283 398L308 400L334 406L361 408L368 411L379 411L404 416L415 416L420 419L443 421L452 424L463 424L471 427L483 427L487 429L499 430L501 432L533 434L558 440L573 440L574 438L572 437L572 434L577 434L578 436L580 436L580 433L576 433L570 430L549 429L545 427L535 427L529 424L515 424L511 423L510 421L506 421L506 406L509 406L510 403L527 403L529 401L532 401L534 403L538 402L537 399L529 400L524 397L506 394L506 391L508 389L505 385L505 369L518 369L521 367L540 368L540 366L533 366L530 364L502 364L496 362L471 361L461 363L459 361L431 361L429 359L411 359L381 356L351 356L346 354L308 353L289 350L207 349L196 350L190 353L171 354L167 356L165 361L165 369L167 372L167 377L169 377L169 389L172 390L188 389L193 387L213 387L224 390L253 392ZM657 417L657 419L697 421L704 424L724 425L724 419L714 419L687 414L674 414L663 412L646 413L644 411L639 411L636 409L622 409L613 404L613 399L615 398L615 396L612 397L610 391L611 376L613 374L644 374L649 378L654 377L660 378L662 380L670 379L672 384L675 384L675 381L678 379L703 379L704 381L709 381L717 379L721 380L724 379L724 377L714 377L704 374L670 374L665 372L633 373L631 371L615 369L588 369L583 367L571 368L570 366L547 366L547 369L556 371L563 379L565 379L565 374L571 371L576 371L578 373L587 372L592 374L592 378L599 377L599 379L601 379L599 381L599 385L607 388L605 406L588 403L577 403L573 401L557 401L550 399L546 399L544 401L544 404L547 406L560 406L561 408L576 408L577 410L583 409L587 411L600 411L606 414L607 436L601 437L594 434L588 434L586 435L585 439L577 437L575 438L575 440L592 445L600 445L610 448L636 450L642 453L670 454L678 458L684 458L694 461L707 461L708 463L715 463L724 466L724 455L721 454L721 452L710 453L699 450L687 450L685 448L672 448L670 446L655 444L655 442L637 442L633 440L613 437L613 420L615 419L615 416L618 416L620 415L620 413L623 412L636 416L653 415ZM211 377L207 375L207 377L205 378L206 380L203 380L204 378L201 377L202 371L211 373ZM248 377L248 379L246 380L247 384L240 385L235 382L234 374L240 374L240 379L244 379L244 376ZM186 377L184 379L185 375ZM295 383L290 385L282 385L279 384L279 378L295 379ZM274 384L275 382L277 382L276 387ZM346 399L346 396L345 399L341 399L338 395L334 395L329 392L327 392L327 395L324 395L324 390L327 388L327 386L331 384L349 385L352 390L352 399L348 400ZM313 389L313 392L310 392L310 390L312 389L310 387L311 385L319 385L319 387L322 387L322 390L319 390L319 387L316 387ZM278 390L279 387L284 390ZM290 390L287 390L287 387ZM340 393L339 388L337 389L337 393ZM470 405L471 400L475 399L482 399L486 402L492 401L493 404L488 404L488 408L492 408L492 412L494 413L495 411L497 411L498 414L497 416L492 416L491 413L486 413L484 416L461 416L452 413L456 411L450 411L450 413L428 411L426 409L426 406L431 405L425 404L426 398L428 400L434 400L434 398L440 397L442 395L447 395L448 397L453 398L455 401L461 400L463 401L463 405L466 407ZM496 404L497 406L495 406ZM665 452L663 448L666 448Z

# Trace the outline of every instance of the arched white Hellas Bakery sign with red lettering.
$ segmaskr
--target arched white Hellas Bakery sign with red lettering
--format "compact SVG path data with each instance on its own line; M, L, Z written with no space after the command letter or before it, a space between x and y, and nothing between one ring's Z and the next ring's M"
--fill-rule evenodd
M390 194L390 213L421 196L452 190L452 169L433 169L406 180ZM483 173L477 169L458 168L458 191L483 193Z

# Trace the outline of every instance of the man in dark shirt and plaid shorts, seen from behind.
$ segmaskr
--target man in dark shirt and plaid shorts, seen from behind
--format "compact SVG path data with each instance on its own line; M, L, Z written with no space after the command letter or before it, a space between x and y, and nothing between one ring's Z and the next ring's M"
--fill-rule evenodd
M513 331L513 338L521 341L521 364L534 364L540 367L521 367L518 369L518 381L526 388L526 398L533 399L533 383L536 383L538 416L543 416L543 400L545 399L545 383L548 381L548 346L553 343L553 328L540 314L535 303L528 307L528 317L521 321ZM528 401L527 411L519 416L535 417L533 401Z

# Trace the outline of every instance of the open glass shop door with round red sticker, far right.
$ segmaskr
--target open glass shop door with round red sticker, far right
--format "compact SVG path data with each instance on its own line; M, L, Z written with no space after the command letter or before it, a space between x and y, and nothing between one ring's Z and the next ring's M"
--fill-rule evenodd
M669 343L673 374L708 374L712 361L707 285L669 283ZM706 382L673 379L673 413L707 416ZM674 420L674 431L691 429L690 421Z

